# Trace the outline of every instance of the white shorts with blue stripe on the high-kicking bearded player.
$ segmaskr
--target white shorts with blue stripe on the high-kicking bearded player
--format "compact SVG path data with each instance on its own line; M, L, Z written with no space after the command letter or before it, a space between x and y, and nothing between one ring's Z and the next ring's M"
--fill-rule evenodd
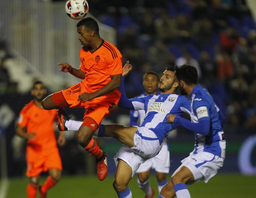
M153 131L145 127L137 128L138 131L134 135L134 147L130 148L122 145L118 153L114 156L116 165L118 163L117 159L121 159L132 167L132 177L140 164L149 158L155 157L162 146L159 145L159 140Z

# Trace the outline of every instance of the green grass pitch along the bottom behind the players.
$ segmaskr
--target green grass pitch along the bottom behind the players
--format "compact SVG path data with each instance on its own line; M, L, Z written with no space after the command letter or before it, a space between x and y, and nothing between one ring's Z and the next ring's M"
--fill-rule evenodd
M45 178L41 179L41 183ZM108 176L104 181L99 181L97 176L63 176L57 186L48 191L48 198L109 198L117 197L112 182L113 176ZM138 188L135 176L129 188L134 198L145 197ZM196 182L189 187L192 198L255 198L256 177L245 177L239 174L218 174L205 184ZM28 178L16 178L9 180L7 198L26 197L26 185ZM155 189L154 197L157 197L156 178L150 178L151 186ZM39 197L39 196L38 196Z

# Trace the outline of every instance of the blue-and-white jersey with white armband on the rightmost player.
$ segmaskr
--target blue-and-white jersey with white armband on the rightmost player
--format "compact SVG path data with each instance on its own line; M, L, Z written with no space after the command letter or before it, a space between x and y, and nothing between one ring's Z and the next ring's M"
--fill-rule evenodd
M210 121L210 131L207 135L195 133L194 154L209 152L225 157L226 140L218 116L218 107L207 89L196 85L190 94L191 98L191 121L198 123L201 120Z

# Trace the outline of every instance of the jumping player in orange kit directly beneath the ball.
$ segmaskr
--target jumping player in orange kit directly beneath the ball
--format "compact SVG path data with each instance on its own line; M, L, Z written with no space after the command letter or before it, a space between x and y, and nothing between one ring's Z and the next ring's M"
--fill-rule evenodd
M59 123L64 122L64 111L61 108L86 109L76 137L78 143L95 156L97 175L99 180L103 180L108 172L107 154L99 149L92 136L103 118L109 114L109 109L120 99L121 94L117 88L121 83L122 55L113 44L100 37L99 26L94 19L84 18L76 27L78 40L83 46L80 50L80 68L75 69L68 63L58 65L61 65L60 71L69 72L83 81L47 96L42 105L46 110L59 109Z

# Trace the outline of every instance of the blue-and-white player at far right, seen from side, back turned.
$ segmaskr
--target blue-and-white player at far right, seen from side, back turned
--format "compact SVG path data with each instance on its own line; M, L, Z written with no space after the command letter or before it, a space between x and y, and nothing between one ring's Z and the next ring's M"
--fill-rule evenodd
M187 186L199 180L208 182L225 159L226 141L222 129L225 118L212 96L197 83L197 70L184 64L176 69L176 78L181 93L191 98L191 122L173 114L168 115L167 121L195 132L196 141L194 150L181 161L182 165L162 188L160 198L175 195L189 198Z

